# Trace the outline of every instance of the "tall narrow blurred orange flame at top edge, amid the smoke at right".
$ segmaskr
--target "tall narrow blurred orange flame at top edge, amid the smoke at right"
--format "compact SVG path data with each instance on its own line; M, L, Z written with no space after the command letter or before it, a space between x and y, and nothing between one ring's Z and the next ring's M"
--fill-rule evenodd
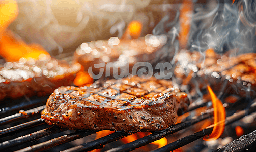
M193 13L192 0L183 0L181 11L180 11L180 33L179 33L180 35L179 42L180 42L181 48L185 48L187 45L192 13Z

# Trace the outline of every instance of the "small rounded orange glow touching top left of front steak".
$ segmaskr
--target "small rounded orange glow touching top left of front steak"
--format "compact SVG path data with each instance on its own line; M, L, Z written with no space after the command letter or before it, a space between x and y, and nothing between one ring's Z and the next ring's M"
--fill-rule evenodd
M93 78L90 77L90 75L87 72L82 71L84 68L81 68L81 71L79 71L76 74L74 84L76 86L84 86L84 85L91 85L93 83Z

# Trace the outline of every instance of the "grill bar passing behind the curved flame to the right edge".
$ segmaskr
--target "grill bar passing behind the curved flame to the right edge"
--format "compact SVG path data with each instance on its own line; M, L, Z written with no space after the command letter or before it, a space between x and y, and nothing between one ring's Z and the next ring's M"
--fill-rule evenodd
M256 111L256 102L254 100L254 103L250 106L250 108L241 110L239 112L234 113L232 116L229 116L225 119L225 124L229 125L235 121L238 121L239 119L243 118L246 115L249 115L250 113ZM167 144L166 146L163 146L157 150L154 150L154 152L163 152L163 151L173 151L175 149L178 149L184 145L187 145L197 139L200 139L206 135L210 135L213 130L213 125L212 127L203 129L202 131L198 131L192 135L186 136L184 138L181 138L179 140L176 140L175 142L172 142L170 144Z

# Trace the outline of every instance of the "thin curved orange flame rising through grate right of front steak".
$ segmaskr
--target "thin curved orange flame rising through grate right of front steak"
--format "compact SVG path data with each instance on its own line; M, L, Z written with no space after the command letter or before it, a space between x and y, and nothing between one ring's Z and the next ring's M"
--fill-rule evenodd
M214 127L213 131L210 134L209 138L205 137L205 141L211 141L218 139L221 134L224 132L225 129L225 118L226 118L226 110L223 107L221 101L216 97L214 92L212 91L211 87L207 85L207 89L209 90L209 93L212 98L212 104L214 109ZM212 126L212 125L211 125ZM208 127L211 127L208 126Z

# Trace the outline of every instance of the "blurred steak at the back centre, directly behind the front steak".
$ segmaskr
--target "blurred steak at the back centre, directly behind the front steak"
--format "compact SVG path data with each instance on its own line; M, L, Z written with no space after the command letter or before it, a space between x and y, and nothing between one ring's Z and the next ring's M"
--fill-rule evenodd
M124 68L128 65L130 71L137 62L150 62L159 56L159 50L167 41L165 35L153 36L151 34L139 39L119 40L111 37L109 40L99 40L82 43L75 51L75 61L80 63L85 71L92 67L94 73L100 68L94 68L99 63L114 63L114 67ZM106 68L106 66L104 67ZM104 70L105 71L105 70ZM113 74L110 68L110 75Z

